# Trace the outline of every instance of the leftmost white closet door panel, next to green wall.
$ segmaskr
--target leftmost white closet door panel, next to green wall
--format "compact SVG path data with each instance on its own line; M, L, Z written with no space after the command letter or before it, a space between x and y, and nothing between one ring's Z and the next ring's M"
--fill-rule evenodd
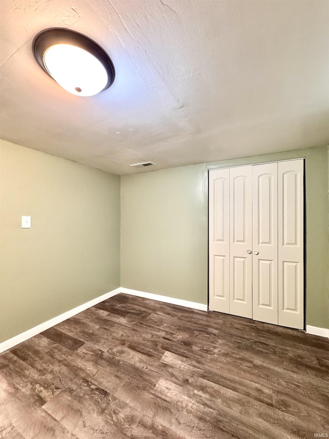
M209 309L230 312L229 169L209 171Z

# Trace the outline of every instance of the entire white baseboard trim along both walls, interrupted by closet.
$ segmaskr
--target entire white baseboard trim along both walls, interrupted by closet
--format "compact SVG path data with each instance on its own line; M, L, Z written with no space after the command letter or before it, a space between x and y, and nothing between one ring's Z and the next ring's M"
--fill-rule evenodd
M63 322L66 319L69 319L76 314L81 313L85 309L88 309L97 303L103 302L103 300L109 299L113 296L116 296L119 293L129 294L131 296L143 297L145 299L158 300L159 302L172 303L173 305L185 306L187 308L199 309L201 311L207 311L208 305L203 303L191 302L189 300L176 299L174 297L168 296L160 296L158 294L152 294L151 292L138 291L136 289L123 288L119 287L114 289L113 291L106 292L102 296L96 297L93 300L89 300L89 302L83 303L73 309L66 311L63 314L60 314L57 317L54 317L50 320L47 320L44 323L40 323L40 325L34 326L33 328L23 332L22 334L16 335L6 341L0 343L0 353L11 349L11 347L16 346L17 344L22 343L25 340L28 340L31 337L34 337L37 334L40 334L43 331L46 331L52 326L57 325L58 323ZM329 338L329 329L320 328L317 326L306 325L306 334L318 335L320 337L328 337Z

